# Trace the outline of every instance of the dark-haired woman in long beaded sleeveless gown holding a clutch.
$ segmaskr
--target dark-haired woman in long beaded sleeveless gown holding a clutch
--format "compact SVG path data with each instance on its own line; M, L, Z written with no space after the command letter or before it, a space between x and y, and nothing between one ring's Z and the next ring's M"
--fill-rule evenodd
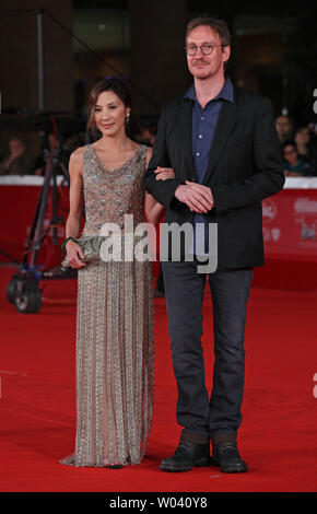
M152 421L152 264L136 258L84 264L74 241L83 203L83 235L99 234L105 223L116 223L124 234L125 214L133 215L136 227L144 221L143 207L150 223L162 215L163 207L144 191L142 180L151 149L126 136L130 110L130 93L121 81L97 82L90 97L87 127L97 128L102 137L75 150L69 164L66 250L78 269L77 436L74 453L60 463L72 466L139 464ZM168 179L174 172L161 168L156 176Z

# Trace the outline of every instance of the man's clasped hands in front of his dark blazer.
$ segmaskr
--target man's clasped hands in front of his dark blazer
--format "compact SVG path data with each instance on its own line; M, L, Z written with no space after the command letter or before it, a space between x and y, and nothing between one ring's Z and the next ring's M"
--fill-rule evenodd
M214 207L213 196L208 186L186 180L186 186L178 186L175 198L183 201L193 212L206 214Z

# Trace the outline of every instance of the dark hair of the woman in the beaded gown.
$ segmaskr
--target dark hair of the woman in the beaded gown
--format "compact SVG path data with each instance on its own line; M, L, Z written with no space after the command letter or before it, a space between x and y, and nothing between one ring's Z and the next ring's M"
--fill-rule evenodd
M132 106L131 93L125 82L116 78L99 80L90 94L87 130L95 131L95 106L99 94L104 91L113 91L121 100L125 107L131 108Z

